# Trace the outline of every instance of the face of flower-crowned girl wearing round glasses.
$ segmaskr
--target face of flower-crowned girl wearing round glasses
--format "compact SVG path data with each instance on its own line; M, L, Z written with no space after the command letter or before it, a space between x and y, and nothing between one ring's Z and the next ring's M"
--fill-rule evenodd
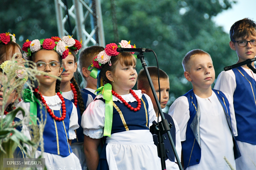
M58 58L59 58L59 56L55 51L39 50L38 52L36 52L33 60L35 63L45 62L47 64L46 67L42 71L47 72L48 74L53 75L53 76L60 76L63 71L62 67L58 66L56 70L52 70L49 66L49 63L52 61L59 62ZM40 76L36 76L36 78L38 78L38 80L41 84L51 85L51 84L55 83L55 81L56 81L56 78L51 77L51 76L40 75Z

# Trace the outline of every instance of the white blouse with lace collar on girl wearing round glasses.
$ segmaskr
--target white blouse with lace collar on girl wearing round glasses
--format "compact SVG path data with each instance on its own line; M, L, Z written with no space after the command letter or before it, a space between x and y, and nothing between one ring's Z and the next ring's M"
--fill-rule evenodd
M52 110L60 110L61 109L61 100L59 98L59 96L56 94L54 96L43 96L47 105L52 109ZM41 102L40 102L41 103ZM77 116L77 110L76 107L73 104L73 109L72 109L72 113L69 119L69 139L73 140L76 138L75 135L75 129L77 129L79 127L78 125L78 116ZM30 115L30 102L24 102L24 100L22 100L17 107L21 107L25 110L25 117L29 118ZM19 111L16 115L17 118L19 118L20 120L23 120L23 115L21 114L21 111ZM25 120L25 124L29 124L29 119Z

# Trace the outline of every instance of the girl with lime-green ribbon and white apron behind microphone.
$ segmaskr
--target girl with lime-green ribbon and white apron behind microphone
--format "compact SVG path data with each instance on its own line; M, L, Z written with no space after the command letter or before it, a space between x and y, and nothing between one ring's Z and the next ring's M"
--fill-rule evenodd
M118 53L117 47L131 48L122 40L120 45L106 45L93 61L92 73L100 70L104 86L82 115L84 152L90 170L161 169L157 147L149 123L156 114L150 97L136 84L136 59L131 53ZM98 71L99 72L99 71ZM98 81L99 82L99 81ZM98 155L100 139L106 140Z

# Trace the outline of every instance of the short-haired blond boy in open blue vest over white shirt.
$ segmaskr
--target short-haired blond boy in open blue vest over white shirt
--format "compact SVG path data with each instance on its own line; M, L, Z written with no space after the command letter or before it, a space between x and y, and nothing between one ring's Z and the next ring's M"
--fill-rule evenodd
M182 66L193 89L174 101L169 114L180 128L184 169L229 170L224 156L235 169L241 155L232 97L211 88L215 71L208 53L189 51Z

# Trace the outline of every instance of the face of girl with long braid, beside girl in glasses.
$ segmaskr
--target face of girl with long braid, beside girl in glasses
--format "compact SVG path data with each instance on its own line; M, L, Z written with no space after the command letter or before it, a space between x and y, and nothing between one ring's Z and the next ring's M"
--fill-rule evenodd
M61 74L61 82L70 82L77 68L74 56L69 54L66 59L62 59L62 66L65 71Z

